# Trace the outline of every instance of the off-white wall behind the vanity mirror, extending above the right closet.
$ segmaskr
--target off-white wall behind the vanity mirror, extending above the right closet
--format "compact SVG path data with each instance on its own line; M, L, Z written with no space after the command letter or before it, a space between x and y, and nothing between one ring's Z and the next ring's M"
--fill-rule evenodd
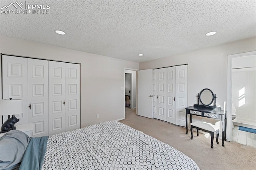
M142 62L140 70L188 64L188 105L196 104L196 94L209 88L218 97L216 105L223 109L227 101L227 55L255 50L256 37Z

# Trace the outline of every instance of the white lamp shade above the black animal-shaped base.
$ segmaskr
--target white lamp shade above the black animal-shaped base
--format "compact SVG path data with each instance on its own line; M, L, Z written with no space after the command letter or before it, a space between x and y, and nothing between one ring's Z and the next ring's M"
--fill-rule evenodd
M14 115L23 113L22 100L0 100L0 115Z

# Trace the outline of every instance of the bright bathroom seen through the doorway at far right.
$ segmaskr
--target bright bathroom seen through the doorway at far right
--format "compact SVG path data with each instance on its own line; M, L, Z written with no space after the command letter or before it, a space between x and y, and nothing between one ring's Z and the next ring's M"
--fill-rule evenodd
M256 148L256 54L231 62L232 141Z

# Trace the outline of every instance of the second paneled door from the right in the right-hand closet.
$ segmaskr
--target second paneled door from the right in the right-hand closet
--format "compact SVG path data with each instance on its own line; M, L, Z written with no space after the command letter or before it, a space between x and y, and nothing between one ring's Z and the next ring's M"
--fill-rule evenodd
M176 124L176 81L175 67L166 68L166 121Z

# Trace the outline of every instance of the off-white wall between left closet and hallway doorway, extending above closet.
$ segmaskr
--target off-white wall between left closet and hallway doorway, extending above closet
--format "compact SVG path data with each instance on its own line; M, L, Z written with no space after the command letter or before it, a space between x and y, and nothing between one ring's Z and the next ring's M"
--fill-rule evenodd
M81 127L124 118L124 68L139 63L5 36L0 53L81 63Z

